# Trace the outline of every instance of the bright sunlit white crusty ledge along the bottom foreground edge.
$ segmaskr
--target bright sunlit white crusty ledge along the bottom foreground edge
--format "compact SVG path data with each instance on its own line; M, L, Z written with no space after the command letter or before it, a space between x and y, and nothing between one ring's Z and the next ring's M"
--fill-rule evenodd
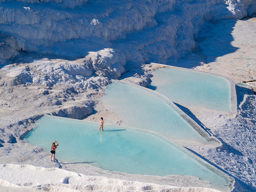
M43 168L32 165L0 165L0 185L21 189L43 189L46 191L168 191L168 192L218 192L202 187L174 187L86 176L59 168ZM1 186L0 186L1 189ZM3 190L5 188L2 188ZM19 191L19 190L17 190ZM22 190L23 191L23 190Z

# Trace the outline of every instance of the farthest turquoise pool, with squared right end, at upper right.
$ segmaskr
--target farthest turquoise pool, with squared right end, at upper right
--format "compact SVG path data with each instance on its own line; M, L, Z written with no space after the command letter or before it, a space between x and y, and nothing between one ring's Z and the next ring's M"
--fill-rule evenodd
M147 87L184 106L231 111L231 90L227 79L179 68L156 69Z

